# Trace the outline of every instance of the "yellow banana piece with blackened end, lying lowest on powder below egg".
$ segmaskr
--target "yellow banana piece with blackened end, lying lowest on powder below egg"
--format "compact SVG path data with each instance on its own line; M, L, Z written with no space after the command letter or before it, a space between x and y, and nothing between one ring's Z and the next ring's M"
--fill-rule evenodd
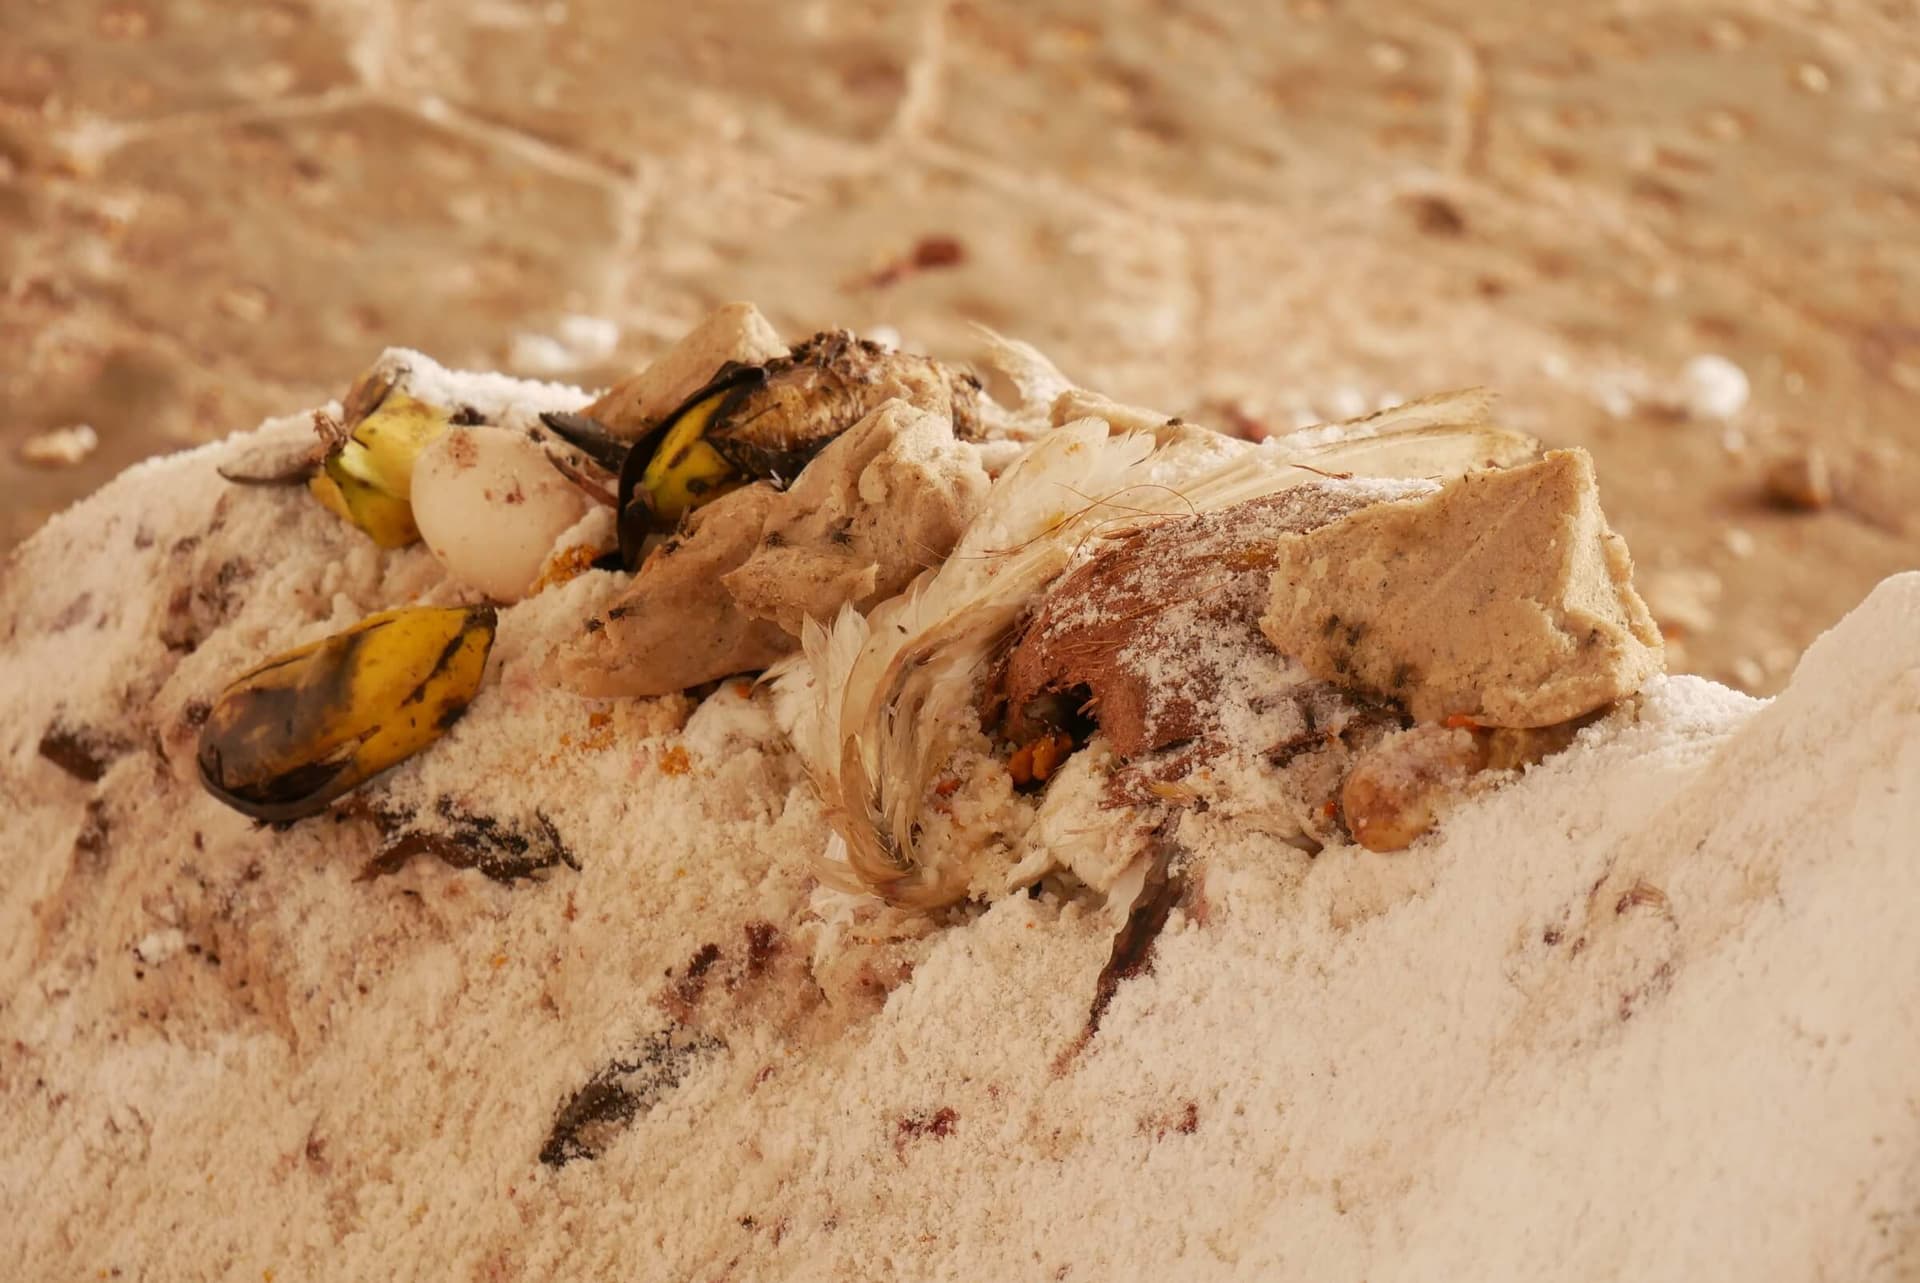
M467 711L493 607L407 607L236 678L200 732L200 780L261 820L298 820L428 747Z

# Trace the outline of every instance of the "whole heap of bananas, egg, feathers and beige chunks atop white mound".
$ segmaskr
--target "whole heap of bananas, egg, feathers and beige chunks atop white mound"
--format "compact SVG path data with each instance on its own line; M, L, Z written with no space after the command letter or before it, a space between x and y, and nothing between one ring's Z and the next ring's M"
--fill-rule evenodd
M1263 789L1286 841L1398 849L1496 757L1546 743L1496 749L1500 728L1571 724L1659 670L1586 457L1534 461L1484 398L1254 446L1071 388L1031 350L996 359L1016 405L847 332L789 351L730 305L538 423L382 363L319 419L317 451L232 476L307 476L382 547L424 532L488 601L601 555L626 586L549 672L634 697L776 668L839 835L820 876L914 910L1054 870L1139 882L1139 841L1075 857L1048 837L1087 795L1152 828ZM426 749L486 657L449 643L451 678L376 663L428 618L236 680L202 734L207 787L292 818ZM415 716L409 682L445 695L440 716Z

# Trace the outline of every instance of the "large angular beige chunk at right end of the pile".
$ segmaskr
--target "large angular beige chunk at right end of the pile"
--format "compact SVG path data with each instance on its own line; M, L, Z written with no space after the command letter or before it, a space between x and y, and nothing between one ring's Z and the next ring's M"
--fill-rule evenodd
M1582 449L1281 536L1260 628L1421 722L1551 726L1665 666Z

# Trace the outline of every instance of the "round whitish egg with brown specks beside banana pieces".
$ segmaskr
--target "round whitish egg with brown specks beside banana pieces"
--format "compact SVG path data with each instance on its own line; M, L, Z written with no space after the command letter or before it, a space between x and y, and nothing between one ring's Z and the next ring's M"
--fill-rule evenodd
M413 465L413 520L461 584L518 601L588 499L520 432L447 428Z

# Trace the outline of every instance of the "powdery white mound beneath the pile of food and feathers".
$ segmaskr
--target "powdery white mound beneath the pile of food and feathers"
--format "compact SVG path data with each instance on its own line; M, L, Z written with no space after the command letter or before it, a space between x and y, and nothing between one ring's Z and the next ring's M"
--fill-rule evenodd
M132 469L0 584L8 1277L1920 1270L1920 574L1776 701L1657 680L1400 855L1190 814L1188 907L1066 1054L1112 920L1052 891L939 922L883 1006L820 997L826 826L766 695L536 676L618 576L503 609L468 716L363 789L538 812L578 870L355 880L367 818L215 803L196 701L455 599L219 480L234 449Z

